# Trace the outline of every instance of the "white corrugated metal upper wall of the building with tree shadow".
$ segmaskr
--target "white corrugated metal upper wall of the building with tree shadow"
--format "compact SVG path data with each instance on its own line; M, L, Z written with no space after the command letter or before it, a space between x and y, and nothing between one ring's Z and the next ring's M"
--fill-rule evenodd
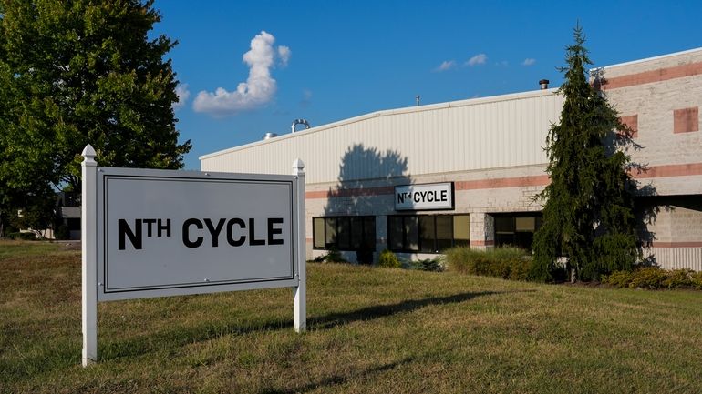
M201 169L287 174L300 157L307 182L322 183L344 158L345 180L544 164L562 106L550 89L381 111L216 152Z

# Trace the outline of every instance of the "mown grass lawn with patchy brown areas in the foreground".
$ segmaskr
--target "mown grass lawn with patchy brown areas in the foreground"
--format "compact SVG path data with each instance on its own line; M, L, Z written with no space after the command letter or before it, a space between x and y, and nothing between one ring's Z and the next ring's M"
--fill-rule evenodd
M98 304L80 255L0 242L0 393L695 393L702 293L308 264L290 289Z

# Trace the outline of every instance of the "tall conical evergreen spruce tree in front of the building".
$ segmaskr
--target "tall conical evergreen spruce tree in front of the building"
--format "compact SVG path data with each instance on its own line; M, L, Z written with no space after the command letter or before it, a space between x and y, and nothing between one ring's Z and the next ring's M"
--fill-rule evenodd
M629 176L631 130L624 126L604 94L588 81L592 62L583 46L583 30L574 29L567 47L565 101L558 124L546 140L551 183L544 200L542 227L534 234L532 278L552 281L556 273L597 280L615 269L631 269L637 248L633 192ZM559 258L566 258L565 267Z

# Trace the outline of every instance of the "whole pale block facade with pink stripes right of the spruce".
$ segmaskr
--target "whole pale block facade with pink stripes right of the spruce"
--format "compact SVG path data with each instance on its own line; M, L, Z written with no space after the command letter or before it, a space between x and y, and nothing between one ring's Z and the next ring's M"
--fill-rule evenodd
M702 270L702 50L604 68L609 101L627 123L636 119L630 152L649 168L639 174L660 210L647 251L667 268Z

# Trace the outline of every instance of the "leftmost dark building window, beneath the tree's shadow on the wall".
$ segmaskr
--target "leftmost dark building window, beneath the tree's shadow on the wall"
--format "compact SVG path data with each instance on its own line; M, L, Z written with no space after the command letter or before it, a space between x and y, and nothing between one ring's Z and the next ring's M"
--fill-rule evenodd
M376 250L376 217L313 217L315 249Z

